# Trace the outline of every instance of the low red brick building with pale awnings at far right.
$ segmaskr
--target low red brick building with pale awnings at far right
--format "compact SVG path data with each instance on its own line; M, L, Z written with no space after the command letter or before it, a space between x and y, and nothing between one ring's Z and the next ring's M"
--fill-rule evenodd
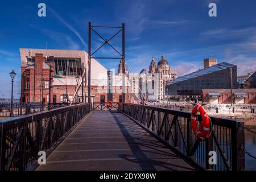
M232 89L234 104L256 104L256 89ZM202 102L230 104L230 89L203 89Z

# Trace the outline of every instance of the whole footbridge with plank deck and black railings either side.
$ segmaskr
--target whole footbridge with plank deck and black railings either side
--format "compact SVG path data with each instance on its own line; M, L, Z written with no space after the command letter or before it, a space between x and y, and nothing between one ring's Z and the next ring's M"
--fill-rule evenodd
M243 122L211 120L212 135L201 141L189 113L136 104L78 104L11 118L0 122L1 170L244 169ZM39 151L46 164L38 164ZM217 164L209 164L209 151Z

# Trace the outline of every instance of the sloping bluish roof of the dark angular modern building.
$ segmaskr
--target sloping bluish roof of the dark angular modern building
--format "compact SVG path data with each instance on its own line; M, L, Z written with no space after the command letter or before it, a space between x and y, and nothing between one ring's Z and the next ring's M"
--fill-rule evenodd
M236 67L236 65L222 62L222 63L216 64L216 65L213 65L212 67L205 68L205 69L199 69L198 71L189 73L188 75L177 77L175 80L168 81L167 85L174 84L174 83L180 82L180 81L189 80L191 78L200 77L203 75L208 75L209 73L221 71L223 69L227 69L230 67Z

